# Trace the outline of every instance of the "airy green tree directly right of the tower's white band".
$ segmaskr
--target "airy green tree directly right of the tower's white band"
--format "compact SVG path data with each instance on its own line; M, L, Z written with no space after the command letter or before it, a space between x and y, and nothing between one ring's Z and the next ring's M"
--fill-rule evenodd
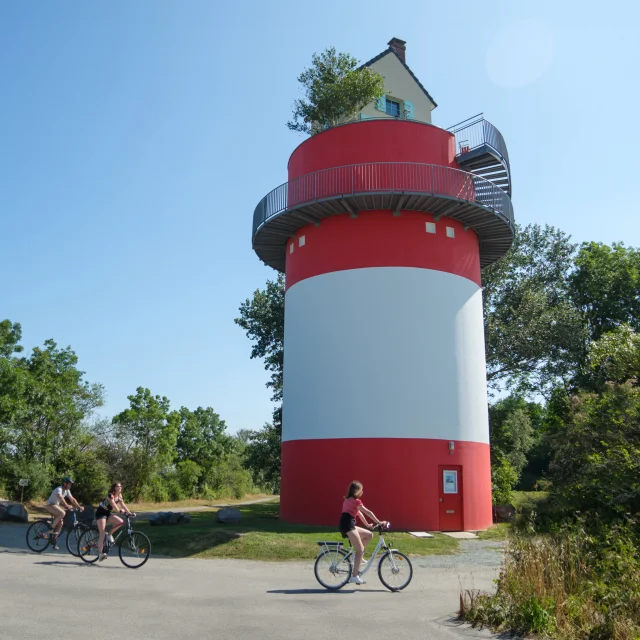
M585 357L584 319L569 276L576 246L553 227L517 228L507 255L482 272L489 389L549 391Z

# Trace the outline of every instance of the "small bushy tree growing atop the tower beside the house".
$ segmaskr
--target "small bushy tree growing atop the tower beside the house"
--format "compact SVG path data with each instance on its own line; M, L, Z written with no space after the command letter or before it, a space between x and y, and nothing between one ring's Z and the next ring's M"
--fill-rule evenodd
M293 119L287 122L292 131L313 135L326 127L349 120L367 104L384 93L384 78L368 67L358 68L358 61L335 47L313 54L312 66L305 69L298 82L306 99L294 102Z

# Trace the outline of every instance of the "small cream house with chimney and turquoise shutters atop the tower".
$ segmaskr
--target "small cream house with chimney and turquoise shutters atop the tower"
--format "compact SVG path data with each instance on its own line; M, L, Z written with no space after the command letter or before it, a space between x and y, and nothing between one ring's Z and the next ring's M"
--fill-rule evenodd
M359 119L401 118L430 123L431 112L438 105L407 65L407 43L392 38L388 44L387 49L362 65L384 78L384 94L362 109Z

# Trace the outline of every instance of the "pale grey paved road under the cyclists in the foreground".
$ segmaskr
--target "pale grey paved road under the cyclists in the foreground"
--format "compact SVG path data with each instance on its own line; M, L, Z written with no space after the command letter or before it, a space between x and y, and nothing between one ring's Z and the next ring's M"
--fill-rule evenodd
M111 633L145 640L489 637L448 620L461 584L492 588L499 554L491 549L486 553L496 561L479 566L465 564L474 552L436 563L416 559L413 581L402 593L387 591L371 574L363 587L332 593L318 585L311 562L152 557L133 571L115 557L89 566L62 551L25 552L24 531L0 525L3 640L41 640L52 633L69 640Z

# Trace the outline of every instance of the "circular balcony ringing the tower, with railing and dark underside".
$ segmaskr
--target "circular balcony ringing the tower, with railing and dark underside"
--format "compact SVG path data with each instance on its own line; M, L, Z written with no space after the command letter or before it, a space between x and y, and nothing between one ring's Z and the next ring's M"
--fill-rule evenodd
M503 187L441 165L371 162L316 171L268 193L253 214L253 248L265 264L284 272L285 243L298 229L376 209L459 220L478 234L482 267L500 259L513 242L513 207Z

